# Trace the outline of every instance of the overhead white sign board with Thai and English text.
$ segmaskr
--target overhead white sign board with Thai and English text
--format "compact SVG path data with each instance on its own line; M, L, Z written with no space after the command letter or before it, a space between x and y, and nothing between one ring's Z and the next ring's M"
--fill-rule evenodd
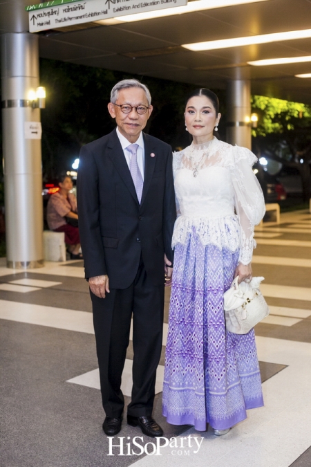
M28 6L30 33L187 5L187 0L54 0Z

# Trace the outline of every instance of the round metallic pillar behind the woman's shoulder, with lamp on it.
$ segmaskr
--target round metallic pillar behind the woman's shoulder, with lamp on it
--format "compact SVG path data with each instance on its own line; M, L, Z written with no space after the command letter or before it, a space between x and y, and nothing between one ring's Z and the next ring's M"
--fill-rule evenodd
M227 143L248 149L252 149L250 92L249 80L227 82Z

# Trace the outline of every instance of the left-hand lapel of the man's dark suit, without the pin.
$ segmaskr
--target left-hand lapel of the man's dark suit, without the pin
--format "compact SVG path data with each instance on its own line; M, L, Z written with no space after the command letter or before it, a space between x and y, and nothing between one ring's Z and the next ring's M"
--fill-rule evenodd
M111 158L115 169L133 196L133 199L135 199L136 203L138 203L138 197L133 183L133 178L131 176L131 172L129 171L129 166L126 163L124 152L120 144L120 140L117 138L117 133L115 130L113 130L110 134L107 149L108 156Z

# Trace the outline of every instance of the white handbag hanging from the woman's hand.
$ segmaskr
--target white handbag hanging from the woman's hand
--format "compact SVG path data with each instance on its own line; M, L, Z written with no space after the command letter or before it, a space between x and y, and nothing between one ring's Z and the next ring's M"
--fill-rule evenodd
M227 331L246 334L255 324L269 315L269 306L259 285L265 277L253 277L251 282L238 284L238 276L224 293L224 309Z

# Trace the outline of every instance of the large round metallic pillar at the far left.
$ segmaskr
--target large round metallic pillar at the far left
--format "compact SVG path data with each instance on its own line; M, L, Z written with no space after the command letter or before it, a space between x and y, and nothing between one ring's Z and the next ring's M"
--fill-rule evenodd
M37 35L15 32L1 36L1 86L7 265L41 267L41 140L28 139L26 131L28 122L40 122L40 111L32 109L29 100L30 91L39 86Z

